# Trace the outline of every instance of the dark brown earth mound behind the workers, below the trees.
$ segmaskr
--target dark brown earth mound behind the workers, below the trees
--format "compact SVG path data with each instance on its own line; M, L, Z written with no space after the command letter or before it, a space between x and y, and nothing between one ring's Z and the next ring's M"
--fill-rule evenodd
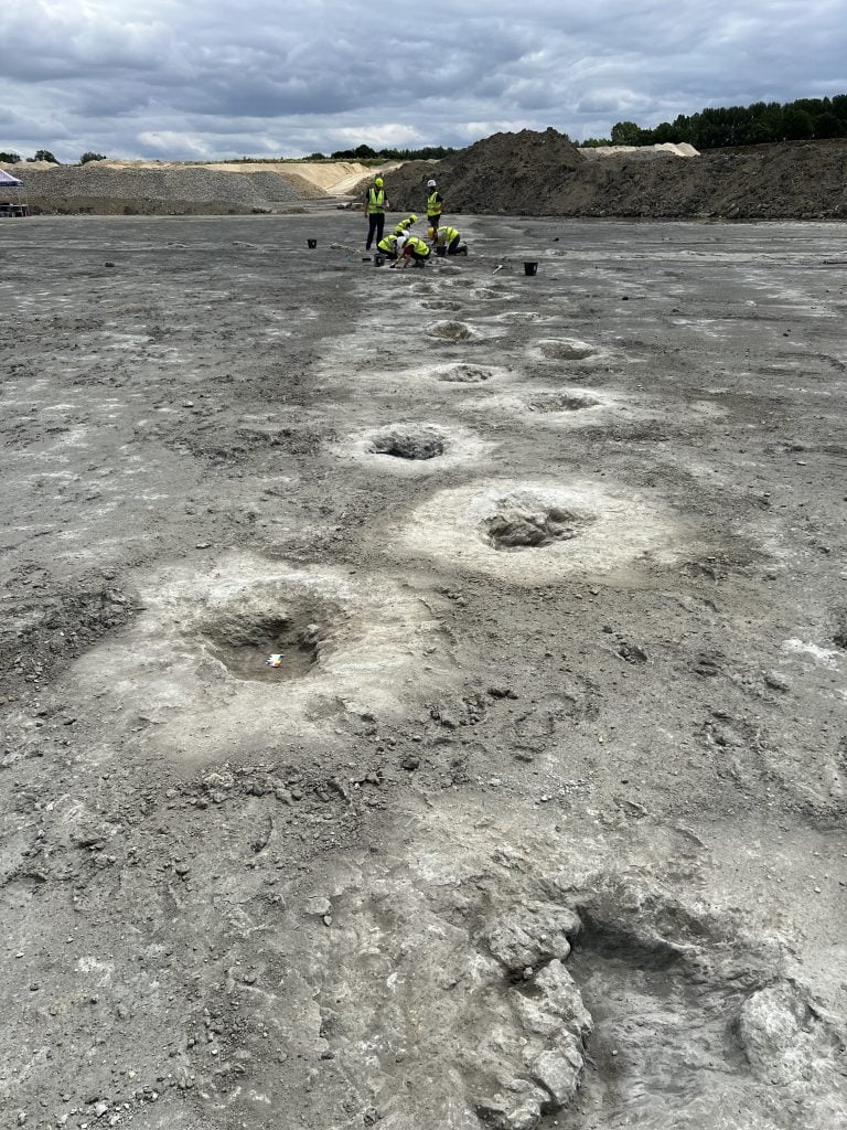
M847 141L797 141L714 149L680 159L631 154L588 160L568 139L543 133L496 133L439 162L447 212L524 216L643 216L734 219L839 218ZM418 209L428 162L386 177L392 203Z

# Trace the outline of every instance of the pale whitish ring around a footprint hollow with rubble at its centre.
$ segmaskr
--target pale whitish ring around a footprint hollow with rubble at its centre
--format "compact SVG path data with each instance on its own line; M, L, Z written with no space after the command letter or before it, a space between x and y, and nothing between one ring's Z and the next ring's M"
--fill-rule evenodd
M670 563L680 536L675 518L629 489L491 480L429 498L413 512L403 545L453 566L538 583L637 559Z

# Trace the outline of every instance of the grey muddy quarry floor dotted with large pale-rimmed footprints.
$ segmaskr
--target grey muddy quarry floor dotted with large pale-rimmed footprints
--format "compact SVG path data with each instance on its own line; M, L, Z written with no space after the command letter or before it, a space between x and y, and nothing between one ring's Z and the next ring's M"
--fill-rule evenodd
M3 1127L847 1124L847 227L455 223L0 225Z

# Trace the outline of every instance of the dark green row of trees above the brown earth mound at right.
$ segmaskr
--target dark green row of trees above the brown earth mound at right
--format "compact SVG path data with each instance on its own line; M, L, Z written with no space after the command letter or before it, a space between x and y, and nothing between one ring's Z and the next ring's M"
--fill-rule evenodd
M847 138L847 94L795 102L754 102L750 106L715 106L679 114L672 122L643 129L636 122L615 122L611 138L587 138L584 147L601 145L663 145L687 141L696 149L763 145L768 141L811 141Z

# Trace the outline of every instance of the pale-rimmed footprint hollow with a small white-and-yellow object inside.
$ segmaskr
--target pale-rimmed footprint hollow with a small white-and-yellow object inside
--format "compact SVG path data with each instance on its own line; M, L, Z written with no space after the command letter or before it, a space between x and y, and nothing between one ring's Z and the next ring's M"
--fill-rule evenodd
M330 721L390 716L448 662L430 609L373 574L233 554L151 576L140 599L132 626L67 675L130 756L238 758Z

